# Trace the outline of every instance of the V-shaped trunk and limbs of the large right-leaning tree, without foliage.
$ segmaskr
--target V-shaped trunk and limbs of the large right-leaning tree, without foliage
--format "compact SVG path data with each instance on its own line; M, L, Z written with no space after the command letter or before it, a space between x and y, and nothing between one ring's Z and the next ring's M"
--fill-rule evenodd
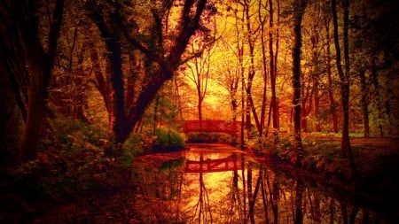
M142 119L146 108L151 104L158 90L165 81L172 79L176 69L181 65L181 58L188 42L196 30L200 28L201 14L206 9L206 4L207 0L184 1L179 24L176 26L177 34L168 49L164 48L166 44L162 36L162 19L160 17L163 13L157 14L153 12L154 21L151 32L155 35L151 36L153 38L151 40L153 46L150 49L147 44L140 42L136 38L136 35L141 34L132 34L129 26L126 26L128 21L124 20L126 18L120 14L122 12L122 4L112 2L103 5L98 4L96 1L86 2L85 7L87 12L89 12L88 15L98 27L109 52L108 61L111 65L112 73L110 127L113 132L112 140L116 146L121 146L129 138L130 133ZM164 6L164 10L168 10L172 7L172 4L165 4ZM105 7L112 7L112 15L106 14L106 12L110 11L103 11ZM145 59L156 68L145 73L143 89L137 93L137 99L129 108L127 108L128 104L124 92L125 83L121 60L122 40L125 40L125 43L129 44L130 47L143 53Z

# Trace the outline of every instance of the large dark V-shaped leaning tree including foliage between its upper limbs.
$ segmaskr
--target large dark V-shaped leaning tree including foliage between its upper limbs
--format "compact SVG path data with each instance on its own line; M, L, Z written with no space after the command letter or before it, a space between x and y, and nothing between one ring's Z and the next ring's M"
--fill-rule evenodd
M124 143L162 84L170 80L183 63L187 44L192 35L203 27L200 22L204 17L202 12L206 9L215 12L215 9L207 4L207 0L186 0L181 6L172 1L161 4L153 4L152 1L140 4L88 1L86 9L109 52L107 58L112 82L110 127L114 143ZM166 27L173 14L169 13L171 11L179 13L179 17L174 31L167 34ZM122 42L139 50L145 57L145 79L129 108L124 97Z

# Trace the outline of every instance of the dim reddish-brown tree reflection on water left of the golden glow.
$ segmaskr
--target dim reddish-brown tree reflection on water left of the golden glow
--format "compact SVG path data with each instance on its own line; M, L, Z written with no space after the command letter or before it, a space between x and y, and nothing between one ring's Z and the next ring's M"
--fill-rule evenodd
M159 164L145 161L137 164L134 182L137 184L134 210L143 223L178 223L184 220L181 193L184 168L180 159Z

